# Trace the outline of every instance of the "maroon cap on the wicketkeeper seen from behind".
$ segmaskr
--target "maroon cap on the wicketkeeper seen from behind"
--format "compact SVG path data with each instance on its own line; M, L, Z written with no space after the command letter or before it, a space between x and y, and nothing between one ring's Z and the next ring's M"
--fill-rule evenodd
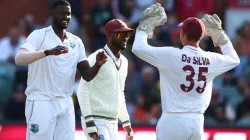
M190 17L184 22L180 23L180 26L185 34L188 34L193 37L201 38L205 32L204 23L195 17Z

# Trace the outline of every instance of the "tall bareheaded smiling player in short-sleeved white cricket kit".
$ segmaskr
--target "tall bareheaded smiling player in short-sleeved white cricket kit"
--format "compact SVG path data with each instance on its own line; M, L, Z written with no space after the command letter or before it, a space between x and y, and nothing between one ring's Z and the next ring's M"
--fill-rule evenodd
M74 140L75 112L71 99L76 68L86 81L93 79L106 62L99 52L89 66L80 38L66 31L71 7L66 0L51 7L52 25L33 31L15 57L28 65L25 116L26 140Z

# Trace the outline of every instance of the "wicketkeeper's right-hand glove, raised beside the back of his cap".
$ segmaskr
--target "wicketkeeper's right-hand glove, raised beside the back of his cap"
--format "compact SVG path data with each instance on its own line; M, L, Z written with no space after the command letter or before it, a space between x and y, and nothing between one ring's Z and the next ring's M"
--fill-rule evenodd
M221 27L220 18L216 14L213 16L205 14L201 21L206 27L205 35L211 36L215 47L225 45L230 41Z

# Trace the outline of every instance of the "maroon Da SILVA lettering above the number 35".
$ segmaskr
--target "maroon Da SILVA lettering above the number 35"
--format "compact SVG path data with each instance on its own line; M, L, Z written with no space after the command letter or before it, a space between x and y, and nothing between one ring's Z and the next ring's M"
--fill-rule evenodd
M182 54L181 61L192 63L194 65L204 65L204 66L210 65L210 61L206 57L196 57L196 56L189 57L186 54Z

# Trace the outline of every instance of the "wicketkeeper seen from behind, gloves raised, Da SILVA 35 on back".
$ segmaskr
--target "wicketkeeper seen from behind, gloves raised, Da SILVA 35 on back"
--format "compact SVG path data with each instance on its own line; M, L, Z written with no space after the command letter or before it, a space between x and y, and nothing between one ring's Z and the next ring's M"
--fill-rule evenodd
M201 20L191 17L179 24L183 48L154 47L147 43L155 26L166 22L164 9L155 4L144 11L137 27L132 52L157 67L160 73L162 116L157 124L157 140L201 140L204 112L212 93L213 79L239 65L231 41L217 15ZM222 54L199 47L203 35L212 38Z

